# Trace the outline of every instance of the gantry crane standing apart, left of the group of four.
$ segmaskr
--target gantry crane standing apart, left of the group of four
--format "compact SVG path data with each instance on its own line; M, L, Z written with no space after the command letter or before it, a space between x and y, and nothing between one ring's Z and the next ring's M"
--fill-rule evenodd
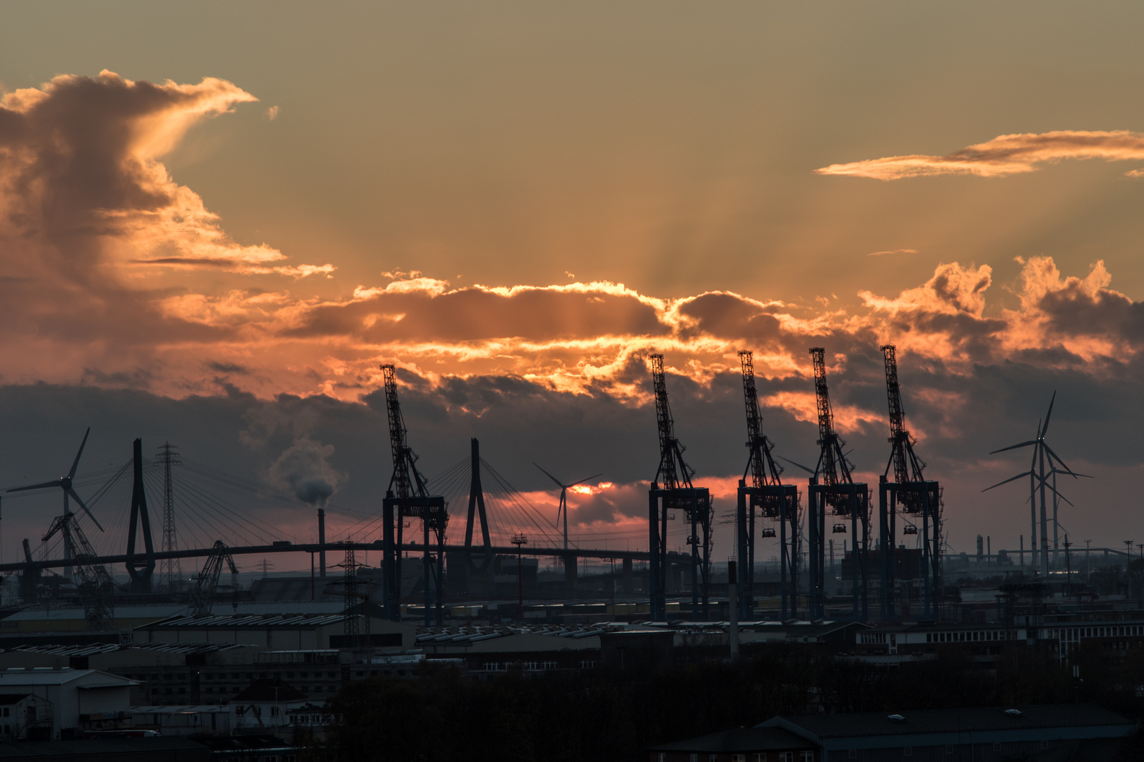
M405 419L402 406L397 399L397 370L391 364L381 366L386 380L386 409L389 414L389 444L394 457L394 475L389 480L389 489L382 500L383 559L384 573L383 605L386 616L400 619L402 599L402 540L405 529L405 518L421 519L422 547L424 551L423 587L426 626L431 624L434 592L437 599L437 624L440 625L444 612L445 583L445 527L448 523L448 512L445 498L429 495L429 488L421 472L418 471L418 456L406 441ZM430 543L430 536L432 543ZM436 564L434 563L434 545L436 545ZM435 568L436 567L436 568Z

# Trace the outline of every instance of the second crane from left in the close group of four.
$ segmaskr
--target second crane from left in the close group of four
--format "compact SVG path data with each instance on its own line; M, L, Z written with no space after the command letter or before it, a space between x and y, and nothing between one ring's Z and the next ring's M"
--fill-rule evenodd
M782 467L774 463L771 442L762 430L758 393L755 390L754 355L739 352L742 368L742 394L747 407L747 450L750 454L739 480L736 523L739 548L739 618L754 618L755 513L779 524L782 619L797 616L799 589L799 488L784 484ZM747 476L750 484L747 484ZM789 537L787 532L789 531ZM764 527L762 537L774 537L773 527Z

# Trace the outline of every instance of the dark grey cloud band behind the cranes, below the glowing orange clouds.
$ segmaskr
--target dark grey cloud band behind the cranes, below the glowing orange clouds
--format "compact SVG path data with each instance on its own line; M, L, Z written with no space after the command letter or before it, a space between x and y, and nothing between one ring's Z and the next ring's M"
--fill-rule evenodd
M537 502L549 495L550 484L532 466L533 460L570 478L602 471L604 479L617 487L590 497L572 496L573 534L599 531L601 522L639 524L645 511L639 484L654 474L658 455L646 371L637 362L630 371L641 390L638 401L621 401L607 393L557 392L508 377L451 378L435 386L402 372L410 441L421 455L422 470L434 475L464 459L469 439L477 436L483 456L517 488L533 494ZM1131 526L1135 514L1130 496L1139 478L1136 432L1144 425L1144 412L1135 404L1137 387L1131 376L1122 372L1096 379L1073 369L1046 372L1014 361L953 376L904 361L907 423L921 438L917 450L929 463L927 473L946 486L946 518L954 546L968 546L978 532L991 535L1000 547L1016 546L1016 536L1027 535L1026 495L1019 484L985 495L979 490L1026 467L1022 454L986 454L1030 438L1054 390L1058 396L1050 441L1074 468L1099 476L1062 488L1078 506L1065 506L1062 522L1074 537L1117 542L1119 536L1104 535L1112 527ZM833 372L829 382L836 409L880 411L885 407L881 353L876 347L851 353L844 369ZM677 434L688 447L686 458L698 470L697 482L707 480L718 489L733 486L746 465L738 375L720 374L700 383L673 374L668 386ZM760 379L758 386L764 400L810 391L808 382L799 377ZM764 406L763 415L764 430L776 441L778 452L812 464L813 423L784 407ZM317 483L315 479L323 482L324 489L336 486L332 527L375 512L391 470L380 392L359 403L289 395L259 400L237 391L225 396L176 401L135 391L8 386L0 387L0 425L10 432L0 447L0 479L6 484L25 483L65 467L84 427L92 425L93 438L81 472L122 463L134 436L143 436L149 449L170 440L190 459L268 487L285 484L304 491ZM855 419L843 431L852 449L851 459L864 479L876 481L876 474L885 467L887 428L883 414ZM315 457L305 463L286 457L301 450ZM309 470L284 470L286 462ZM286 476L287 471L296 476L293 481ZM803 483L803 475L793 467L786 475ZM297 497L296 511L283 514L280 508L259 508L267 512L262 519L294 527L291 531L312 532L313 518L307 503L308 498L321 496ZM41 502L31 512L24 506L32 503L6 500L8 558L16 552L19 537L29 536L34 542L53 515L56 497L38 499ZM725 504L718 510L730 510L729 499L722 500ZM454 506L458 511L461 507ZM352 515L339 513L343 510ZM349 518L343 521L339 518L342 515ZM455 519L452 537L461 536L462 521ZM724 529L718 531L718 547L723 548L718 552L729 553L730 538ZM121 542L119 535L112 535L98 542ZM336 536L335 529L332 536ZM636 539L626 542L638 546L638 537L637 530Z

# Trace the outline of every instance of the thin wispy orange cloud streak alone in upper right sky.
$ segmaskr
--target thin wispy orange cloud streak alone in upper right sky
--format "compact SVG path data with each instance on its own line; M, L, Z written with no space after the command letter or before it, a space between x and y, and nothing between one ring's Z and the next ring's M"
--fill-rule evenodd
M1144 133L1128 130L1055 130L999 135L944 157L912 154L867 159L816 169L818 175L849 175L873 179L901 179L923 175L977 175L1004 177L1031 173L1063 159L1144 160ZM1139 177L1141 170L1126 173Z

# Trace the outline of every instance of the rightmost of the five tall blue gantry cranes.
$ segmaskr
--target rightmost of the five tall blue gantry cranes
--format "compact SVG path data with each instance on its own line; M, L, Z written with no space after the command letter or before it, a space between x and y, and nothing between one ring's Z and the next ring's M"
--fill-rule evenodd
M897 514L921 518L922 531L922 588L924 615L937 618L942 602L942 487L927 481L925 463L914 454L915 440L906 430L906 414L901 406L898 385L897 350L892 344L882 346L885 360L885 395L890 407L890 460L879 479L879 530L881 536L881 604L882 618L893 619L897 585ZM889 481L891 468L893 481ZM916 535L917 528L907 523L905 530ZM911 531L913 530L913 531Z

